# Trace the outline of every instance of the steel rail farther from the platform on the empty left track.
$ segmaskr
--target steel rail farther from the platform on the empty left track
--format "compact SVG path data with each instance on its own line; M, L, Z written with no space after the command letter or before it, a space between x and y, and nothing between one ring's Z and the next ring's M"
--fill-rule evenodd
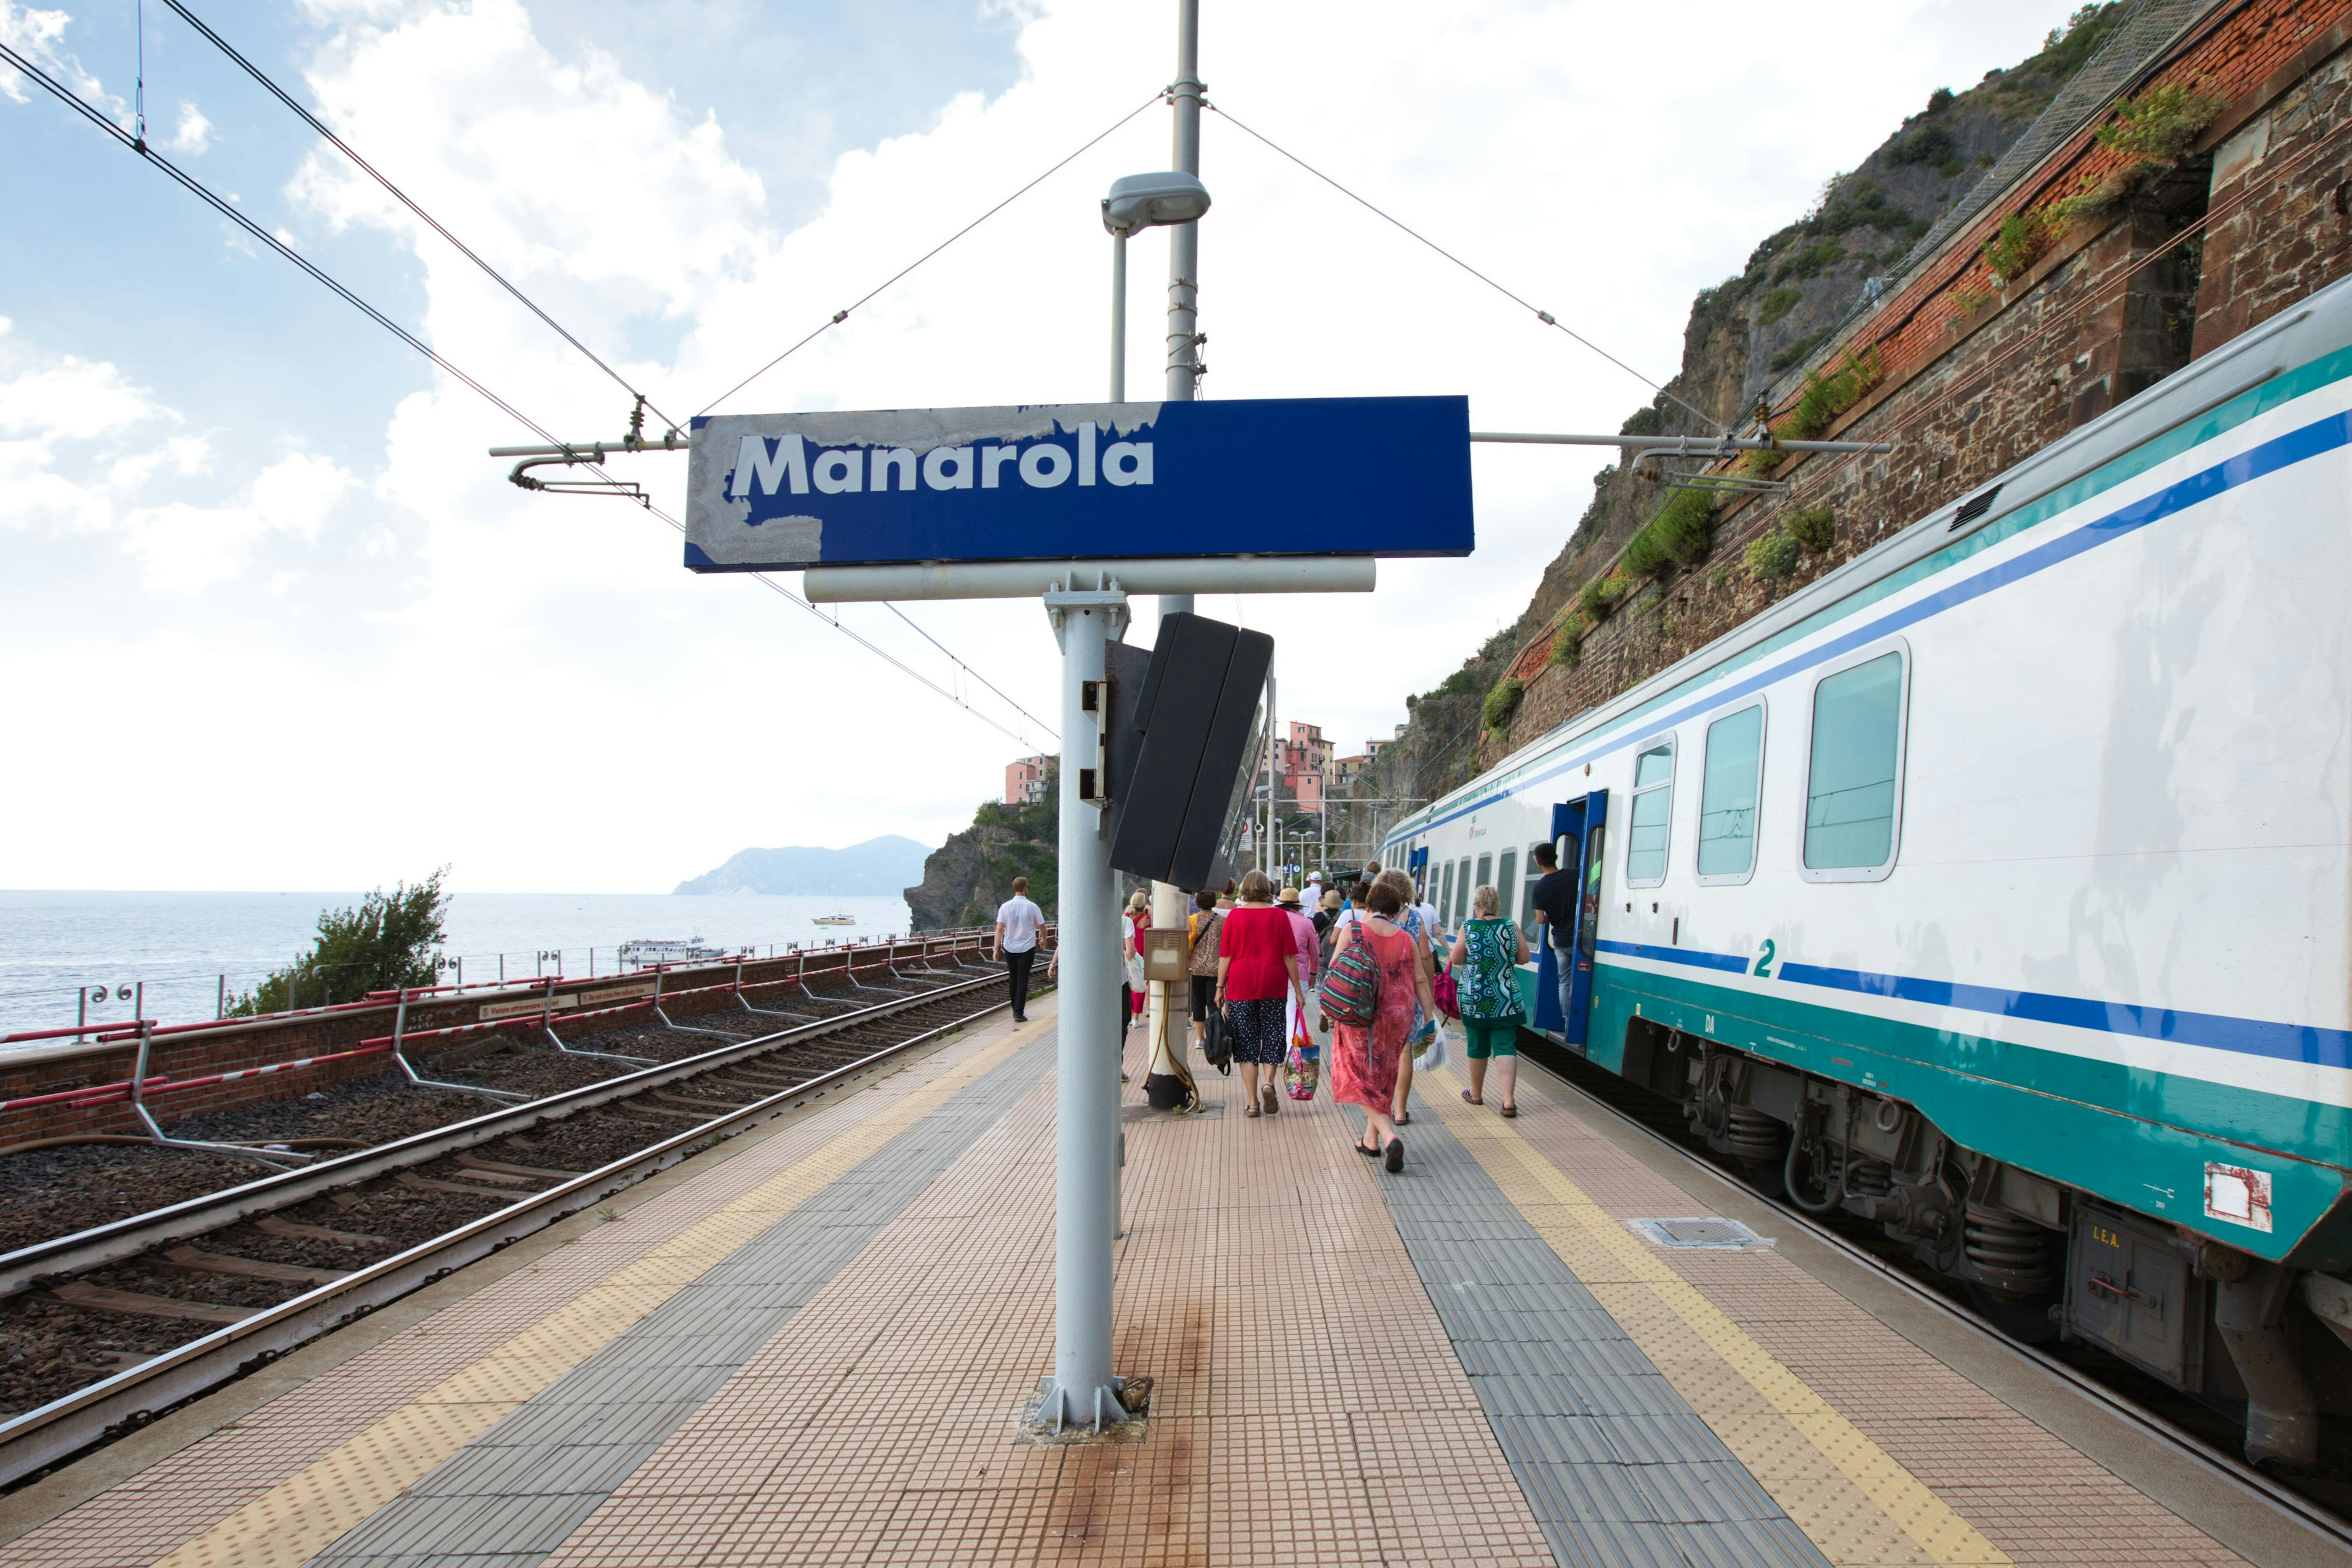
M614 1079L567 1088L564 1093L489 1110L468 1121L452 1121L449 1126L412 1133L393 1143L381 1143L372 1150L358 1150L355 1154L341 1154L336 1159L320 1159L301 1171L263 1175L245 1182L242 1187L223 1187L202 1197L181 1199L179 1204L151 1208L139 1215L125 1215L108 1225L94 1225L92 1229L73 1232L71 1237L35 1241L33 1246L21 1246L14 1253L0 1253L0 1298L31 1291L49 1279L56 1279L59 1274L80 1274L108 1262L122 1262L125 1258L136 1258L139 1253L169 1241L183 1241L275 1208L289 1208L332 1187L348 1187L350 1182L416 1166L442 1154L454 1154L456 1150L470 1150L480 1143L539 1126L541 1121L560 1121L609 1100L626 1100L628 1095L644 1093L647 1088L661 1088L663 1084L675 1084L677 1079L699 1077L746 1056L764 1056L779 1046L802 1039L823 1039L826 1034L837 1034L856 1027L858 1023L889 1018L891 1013L903 1013L910 1006L957 997L981 985L988 985L988 980L960 980L917 992L913 997L891 997L889 1001L877 1001L875 1006L842 1013L840 1018L802 1023L771 1034L755 1034L731 1046L715 1046L699 1056L684 1056L675 1063L640 1067L637 1072L623 1072Z

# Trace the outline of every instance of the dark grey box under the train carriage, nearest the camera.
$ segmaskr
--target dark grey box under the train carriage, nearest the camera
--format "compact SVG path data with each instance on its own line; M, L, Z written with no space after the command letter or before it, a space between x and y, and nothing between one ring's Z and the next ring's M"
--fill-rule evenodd
M2074 1213L2067 1326L2176 1389L2204 1387L2204 1284L2159 1229L2119 1208Z

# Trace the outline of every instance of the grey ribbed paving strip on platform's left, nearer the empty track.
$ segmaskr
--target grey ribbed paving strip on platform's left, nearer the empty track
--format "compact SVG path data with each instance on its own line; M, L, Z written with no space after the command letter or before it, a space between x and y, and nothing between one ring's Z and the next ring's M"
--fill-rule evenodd
M1051 1065L1051 1034L750 1237L313 1568L534 1568Z

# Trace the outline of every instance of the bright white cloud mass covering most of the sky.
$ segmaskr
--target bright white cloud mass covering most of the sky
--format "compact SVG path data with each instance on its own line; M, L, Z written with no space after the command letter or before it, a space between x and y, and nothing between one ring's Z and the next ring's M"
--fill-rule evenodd
M1023 5L1023 73L1009 92L955 96L922 132L837 160L823 212L783 233L724 115L684 110L623 56L557 56L522 0L303 9L327 28L308 68L320 113L680 418L1145 101L1169 71L1164 5ZM1740 40L1693 54L1661 47L1658 14L1639 7L1216 5L1204 75L1242 120L1663 376L1696 287L1738 270L1931 87L2030 52L2051 14L2025 0L1825 0L1804 28L1757 31L1731 0L1693 0L1668 24L1677 38ZM691 7L644 7L644 26L691 26ZM1101 395L1096 197L1112 176L1164 162L1167 110L1152 108L729 407ZM1211 397L1449 390L1470 395L1479 423L1531 430L1616 428L1646 397L1216 118L1204 179L1216 193L1200 280ZM339 155L308 158L289 188L327 223L414 249L421 329L452 360L562 435L619 433L616 386ZM1136 242L1131 263L1129 383L1148 393L1164 249ZM66 487L56 505L80 498L179 621L87 649L71 679L54 658L0 649L0 682L42 684L38 665L40 703L71 715L151 672L153 738L183 759L183 797L176 816L139 813L73 780L19 778L16 804L45 820L103 818L122 863L54 872L16 846L0 882L369 886L456 860L466 889L668 886L750 842L934 837L995 790L1007 757L1035 750L755 583L689 578L675 536L637 508L515 491L482 449L529 437L447 381L397 404L379 470L282 456L238 473L167 409L141 411L113 367L31 369L61 390L24 402L80 400L89 418L118 418L113 449L75 465L82 449L47 425L0 423L0 494L12 510L26 494L9 487L7 442L38 449L21 463L28 484ZM16 407L19 374L0 371L0 411ZM1352 750L1524 604L1599 461L1479 451L1479 552L1388 562L1371 599L1200 609L1277 628L1282 717L1322 722ZM682 494L675 456L616 468L666 503ZM129 494L141 487L151 494ZM207 487L226 496L198 503ZM285 585L296 550L341 550L381 583L376 597L301 632L299 658L256 649L249 616L198 616L240 583ZM296 628L308 595L296 574L278 607L238 604ZM910 614L1054 717L1054 644L1035 604ZM887 611L842 618L953 679ZM437 769L435 809L419 811L414 776L332 755L334 792L294 788L223 726L242 705L233 693L268 693L285 715L419 712L421 696L435 715L527 712L527 733L581 750ZM985 693L974 703L1004 712ZM343 743L325 733L329 752ZM188 832L198 820L205 832Z

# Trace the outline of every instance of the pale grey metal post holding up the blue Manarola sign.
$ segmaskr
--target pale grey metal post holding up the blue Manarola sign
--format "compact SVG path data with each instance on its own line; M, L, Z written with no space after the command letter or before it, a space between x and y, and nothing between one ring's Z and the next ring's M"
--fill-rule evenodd
M1056 1009L1054 1385L1037 1420L1061 1427L1122 1425L1110 1371L1110 1246L1117 1232L1120 1041L1117 924L1110 844L1101 809L1080 795L1080 757L1094 757L1087 686L1103 679L1103 649L1127 621L1127 595L1068 590L1044 597L1061 639L1061 1004Z

